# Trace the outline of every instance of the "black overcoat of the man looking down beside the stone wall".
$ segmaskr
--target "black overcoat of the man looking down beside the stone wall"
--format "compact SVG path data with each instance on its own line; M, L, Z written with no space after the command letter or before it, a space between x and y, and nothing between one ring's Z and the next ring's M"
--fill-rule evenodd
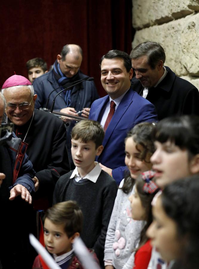
M187 80L177 77L176 74L167 66L166 77L152 87L146 96L157 111L158 120L173 115L199 115L199 92L198 89ZM143 86L135 78L132 79L131 87L138 94L142 94Z

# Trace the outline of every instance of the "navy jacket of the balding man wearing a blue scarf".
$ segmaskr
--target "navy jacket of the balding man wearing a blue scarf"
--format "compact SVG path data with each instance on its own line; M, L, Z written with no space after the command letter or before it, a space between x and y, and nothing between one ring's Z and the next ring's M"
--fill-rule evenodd
M87 76L80 72L80 79L86 78ZM35 94L37 94L37 99L35 102L35 108L45 107L47 98L51 91L55 88L60 87L53 70L38 77L33 82L33 87ZM61 91L62 88L57 89L50 95L48 108L51 107L55 95ZM64 100L65 94L62 92L55 99L54 110L60 110L66 107L66 102ZM71 104L70 107L75 108L76 111L81 111L85 107L91 107L93 101L98 99L98 93L95 88L95 83L93 81L84 81L78 85L75 85L71 92Z

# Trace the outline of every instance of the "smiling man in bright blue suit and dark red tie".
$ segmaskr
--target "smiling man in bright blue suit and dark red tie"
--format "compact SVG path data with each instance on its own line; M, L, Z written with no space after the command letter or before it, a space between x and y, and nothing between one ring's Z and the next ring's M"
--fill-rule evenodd
M158 118L154 105L130 88L133 70L127 53L109 51L102 56L100 67L101 83L108 95L92 103L89 119L105 126L104 149L97 161L119 184L126 169L124 140L127 132L140 122L155 122ZM115 112L107 127L111 101L115 103Z

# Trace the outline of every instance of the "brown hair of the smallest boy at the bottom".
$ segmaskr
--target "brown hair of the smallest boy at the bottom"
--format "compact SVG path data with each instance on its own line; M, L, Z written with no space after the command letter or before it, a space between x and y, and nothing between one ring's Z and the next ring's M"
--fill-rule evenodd
M70 238L74 233L81 233L83 214L75 201L66 201L47 209L44 221L48 218L53 224L64 224L64 230Z

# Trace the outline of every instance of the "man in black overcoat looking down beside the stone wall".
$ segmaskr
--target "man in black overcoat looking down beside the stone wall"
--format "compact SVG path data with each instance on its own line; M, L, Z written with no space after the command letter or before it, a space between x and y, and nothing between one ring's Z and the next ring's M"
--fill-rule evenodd
M156 42L144 42L131 53L135 78L132 88L156 108L158 120L172 115L199 115L198 89L177 77L165 62L165 52Z

